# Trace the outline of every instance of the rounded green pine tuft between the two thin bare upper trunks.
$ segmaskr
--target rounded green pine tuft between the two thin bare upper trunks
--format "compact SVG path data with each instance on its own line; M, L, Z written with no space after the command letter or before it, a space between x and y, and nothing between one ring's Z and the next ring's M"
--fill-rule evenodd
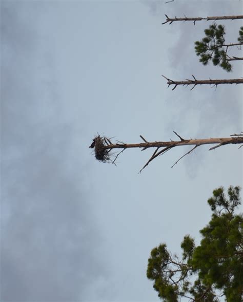
M219 65L228 72L232 71L232 65L228 61L228 48L224 47L225 27L214 23L204 32L206 36L201 41L195 42L195 52L200 56L199 61L207 65L211 60L214 66Z

